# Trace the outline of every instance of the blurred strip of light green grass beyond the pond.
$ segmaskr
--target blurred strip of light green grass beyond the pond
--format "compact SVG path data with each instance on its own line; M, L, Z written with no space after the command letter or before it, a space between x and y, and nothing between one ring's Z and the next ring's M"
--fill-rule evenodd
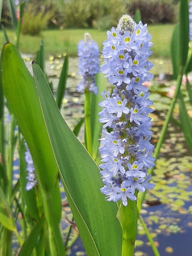
M149 25L148 31L152 34L153 57L170 57L170 40L172 37L174 25ZM99 49L102 49L102 42L106 40L106 31L96 29L65 29L65 30L45 30L40 36L20 36L19 50L22 53L36 54L39 49L40 41L43 38L45 43L46 55L63 54L68 52L70 56L77 55L77 44L83 39L84 33L90 33L92 38L98 43ZM7 31L10 42L14 42L14 32ZM5 43L4 34L0 31L0 46Z

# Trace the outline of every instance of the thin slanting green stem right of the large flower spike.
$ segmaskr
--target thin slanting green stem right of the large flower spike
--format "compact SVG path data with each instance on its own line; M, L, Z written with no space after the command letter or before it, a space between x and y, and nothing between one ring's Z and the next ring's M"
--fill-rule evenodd
M181 74L178 75L178 77L177 77L177 84L176 84L176 90L175 90L174 97L173 97L173 99L172 99L172 102L170 103L170 108L169 108L168 113L167 113L167 115L166 115L165 122L164 122L163 127L162 127L162 130L161 130L161 135L160 135L160 137L159 137L159 139L158 139L158 142L157 142L157 145L156 145L156 147L155 147L154 157L156 158L156 160L157 160L157 158L158 158L158 156L159 156L159 152L160 152L160 149L161 149L161 145L162 145L162 143L163 143L163 141L164 141L164 137L165 137L165 134L166 134L166 131L167 131L167 127L168 127L170 118L172 117L172 113L173 113L173 110L174 110L174 107L175 107L175 103L176 103L176 101L177 101L177 97L178 97L179 92L180 92L180 87L181 87L181 82L182 82L182 77L183 77L183 70L181 70L180 73L181 73ZM155 160L155 162L156 162L156 160ZM154 169L155 169L155 166L152 167L152 168L149 170L148 174L151 174L151 175L152 175L153 172L154 172ZM138 212L139 212L139 213L140 213L140 211L141 211L142 203L143 203L143 201L144 201L145 195L146 195L146 190L145 190L144 193L139 193L139 197L138 197L138 199L139 199L139 201L138 201Z

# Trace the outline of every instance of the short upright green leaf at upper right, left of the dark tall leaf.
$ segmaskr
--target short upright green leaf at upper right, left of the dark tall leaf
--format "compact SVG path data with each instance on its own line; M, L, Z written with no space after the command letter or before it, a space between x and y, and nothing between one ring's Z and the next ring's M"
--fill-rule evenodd
M174 28L170 47L170 54L172 56L173 78L177 79L179 74L179 25L176 25Z

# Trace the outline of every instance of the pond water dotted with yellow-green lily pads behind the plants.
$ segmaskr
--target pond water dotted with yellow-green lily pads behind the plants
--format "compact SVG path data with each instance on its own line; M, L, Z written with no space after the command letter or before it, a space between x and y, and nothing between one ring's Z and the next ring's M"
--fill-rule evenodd
M24 56L26 64L31 70L31 56ZM58 84L63 58L50 56L46 61L46 71L49 80L53 82L54 89ZM151 99L154 101L154 112L152 119L153 144L159 138L166 111L170 104L170 91L173 90L175 82L164 80L170 77L171 66L169 60L155 60L154 80L148 84L151 90ZM161 74L159 74L159 70ZM166 76L164 76L166 74ZM66 95L63 99L61 113L71 128L83 117L83 94L76 92L79 82L77 74L77 59L70 58L69 76L67 81ZM169 97L167 97L167 95ZM177 126L178 106L176 106L173 119L169 123L165 141L161 148L160 157L157 161L153 181L156 188L147 194L143 204L142 217L150 230L155 244L161 255L188 256L192 250L192 158L189 148L184 140L183 134ZM79 135L83 140L83 131ZM15 162L15 166L18 163ZM15 178L18 178L18 168L15 167ZM69 228L72 214L66 203L65 193L63 195L63 236ZM112 202L111 202L112 203ZM71 240L76 240L76 230L72 229ZM86 255L80 238L71 247L69 255ZM136 241L135 256L151 256L153 251L147 241L141 224L138 224L138 236ZM108 256L108 255L106 255ZM111 255L109 255L111 256Z

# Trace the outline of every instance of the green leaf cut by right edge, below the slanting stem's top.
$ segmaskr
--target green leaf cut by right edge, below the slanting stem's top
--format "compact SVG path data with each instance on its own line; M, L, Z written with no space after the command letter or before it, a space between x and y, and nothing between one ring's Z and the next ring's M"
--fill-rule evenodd
M183 95L180 93L179 96L180 96L179 117L180 117L181 129L185 136L186 142L190 148L190 151L192 153L192 122L187 113Z

